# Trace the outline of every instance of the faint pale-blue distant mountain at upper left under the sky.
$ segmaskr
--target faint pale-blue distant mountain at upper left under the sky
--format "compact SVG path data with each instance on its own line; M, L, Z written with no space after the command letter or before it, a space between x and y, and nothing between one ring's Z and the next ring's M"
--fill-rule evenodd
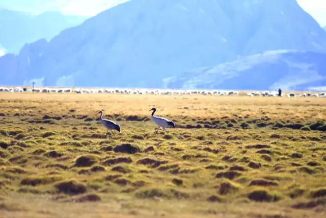
M65 16L59 12L33 15L0 10L0 50L3 53L18 53L25 43L40 38L50 40L62 30L77 26L85 19L85 17Z

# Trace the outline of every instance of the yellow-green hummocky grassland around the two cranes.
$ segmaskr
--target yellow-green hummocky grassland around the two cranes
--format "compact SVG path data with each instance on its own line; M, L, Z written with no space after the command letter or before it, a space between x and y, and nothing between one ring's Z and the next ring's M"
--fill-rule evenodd
M326 102L0 93L0 217L325 217ZM176 123L154 134L149 109ZM103 110L122 132L105 138Z

